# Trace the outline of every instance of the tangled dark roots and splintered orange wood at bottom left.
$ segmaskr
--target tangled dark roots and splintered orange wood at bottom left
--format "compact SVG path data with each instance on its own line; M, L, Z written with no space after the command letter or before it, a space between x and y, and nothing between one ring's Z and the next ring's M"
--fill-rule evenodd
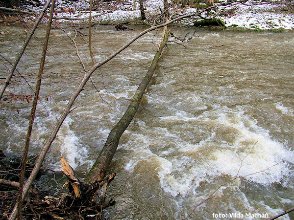
M7 179L19 179L17 174L11 174L10 161L0 160L0 220L8 219L18 195L19 183ZM4 162L8 164L4 166ZM104 219L104 209L115 204L113 199L106 198L106 188L116 174L87 185L74 176L73 169L63 159L62 166L62 172L68 177L64 184L68 193L53 197L32 187L23 205L23 219Z

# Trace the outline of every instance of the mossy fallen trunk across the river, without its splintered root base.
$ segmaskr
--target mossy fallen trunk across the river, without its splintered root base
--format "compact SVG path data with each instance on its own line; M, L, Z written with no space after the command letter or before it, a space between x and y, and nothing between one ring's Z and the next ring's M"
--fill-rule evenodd
M90 170L90 172L88 173L85 179L86 184L93 184L96 181L100 181L104 178L105 173L113 158L113 155L115 154L116 149L118 147L119 140L138 110L138 107L140 105L145 89L147 88L147 85L149 84L152 78L152 75L155 71L158 60L162 54L162 50L167 43L169 32L167 31L167 27L165 27L164 30L165 30L165 33L164 33L163 42L160 44L158 51L156 52L154 56L152 64L149 67L145 78L142 80L141 84L139 85L123 117L109 133L103 149L101 150L95 164L93 165L92 169Z

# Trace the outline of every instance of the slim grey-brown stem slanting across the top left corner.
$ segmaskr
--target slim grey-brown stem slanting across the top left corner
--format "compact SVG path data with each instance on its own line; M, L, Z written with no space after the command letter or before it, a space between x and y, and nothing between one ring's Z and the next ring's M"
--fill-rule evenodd
M41 22L41 19L43 18L44 14L45 14L45 12L46 12L46 10L47 10L47 8L49 7L50 2L51 2L51 0L48 0L48 1L47 1L47 3L46 3L46 5L45 5L45 7L44 7L42 13L39 15L37 21L35 22L35 25L33 26L32 31L31 31L31 32L29 33L29 35L27 36L27 38L26 38L26 40L25 40L25 43L24 43L22 49L20 50L20 52L19 52L17 58L16 58L15 61L14 61L13 66L12 66L11 69L9 70L8 76L6 77L6 79L5 79L5 81L4 81L3 85L2 85L2 87L1 87L1 89L0 89L0 100L1 100L1 98L2 98L2 96L3 96L3 93L4 93L5 89L6 89L6 87L8 86L8 84L9 84L9 82L10 82L10 79L11 79L12 76L13 76L13 73L14 73L14 70L15 70L16 66L18 65L18 63L19 63L21 57L23 56L23 54L24 54L24 52L25 52L25 48L26 48L27 44L29 43L29 41L30 41L30 39L32 38L32 36L33 36L35 30L37 29L39 23Z

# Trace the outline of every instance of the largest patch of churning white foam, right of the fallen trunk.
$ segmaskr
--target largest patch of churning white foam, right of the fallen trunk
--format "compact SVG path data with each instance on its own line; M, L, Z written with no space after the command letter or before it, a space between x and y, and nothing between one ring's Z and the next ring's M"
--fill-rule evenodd
M191 186L197 187L200 182L209 182L211 177L221 175L233 178L238 174L256 183L268 185L282 182L285 176L291 174L288 163L294 163L294 153L288 150L287 146L273 140L269 131L259 127L257 121L245 115L243 111L218 107L198 118L191 117L192 115L189 118L188 115L183 113L166 116L162 117L161 121L195 121L212 127L215 132L196 144L177 137L176 146L169 154L176 151L180 159L169 154L161 154L167 157L164 160L160 159L158 176L164 191L172 196L186 195L190 192ZM218 129L233 129L234 141L218 141Z

